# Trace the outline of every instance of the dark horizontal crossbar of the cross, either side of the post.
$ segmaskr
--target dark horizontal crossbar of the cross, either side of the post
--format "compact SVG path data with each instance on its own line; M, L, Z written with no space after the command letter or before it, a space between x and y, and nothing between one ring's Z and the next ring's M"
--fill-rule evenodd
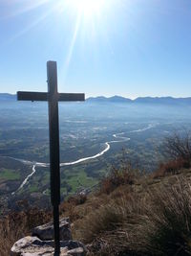
M18 101L45 102L49 101L49 93L47 92L28 92L18 91ZM85 101L84 93L57 93L57 101L59 102L83 102Z

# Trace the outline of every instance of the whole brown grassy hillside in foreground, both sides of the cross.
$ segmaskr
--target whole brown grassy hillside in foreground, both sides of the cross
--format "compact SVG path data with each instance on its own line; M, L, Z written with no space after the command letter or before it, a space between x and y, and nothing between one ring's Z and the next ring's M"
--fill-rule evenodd
M183 159L159 166L152 175L131 165L113 169L88 197L78 195L60 205L69 217L74 241L88 255L164 256L191 254L191 168ZM52 220L52 212L26 209L0 221L0 255Z

